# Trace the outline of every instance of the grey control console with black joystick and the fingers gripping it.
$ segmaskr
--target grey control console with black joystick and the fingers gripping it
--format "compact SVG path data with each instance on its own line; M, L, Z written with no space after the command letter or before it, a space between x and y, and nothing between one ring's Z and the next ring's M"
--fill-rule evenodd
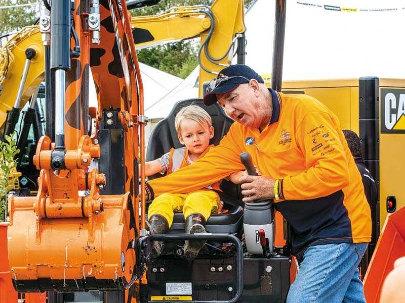
M252 195L251 199L245 201L244 209L244 232L246 248L252 255L264 255L273 251L273 206L271 199L252 199L252 197L266 196L260 190L264 190L260 186L260 179L267 178L266 176L258 176L255 166L252 162L252 157L249 153L240 154L240 162L245 165L249 176L241 177L242 194ZM259 183L258 187L252 187L251 183Z

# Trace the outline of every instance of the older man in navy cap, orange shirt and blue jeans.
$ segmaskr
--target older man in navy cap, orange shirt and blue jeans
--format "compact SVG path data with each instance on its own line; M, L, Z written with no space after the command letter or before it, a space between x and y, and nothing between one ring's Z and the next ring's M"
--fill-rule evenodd
M203 159L149 181L149 196L221 180L244 169L239 154L248 151L262 175L240 178L243 200L273 199L292 227L300 271L288 301L365 302L357 265L371 237L370 208L337 117L310 96L267 89L239 64L210 82L204 103L215 102L236 123Z

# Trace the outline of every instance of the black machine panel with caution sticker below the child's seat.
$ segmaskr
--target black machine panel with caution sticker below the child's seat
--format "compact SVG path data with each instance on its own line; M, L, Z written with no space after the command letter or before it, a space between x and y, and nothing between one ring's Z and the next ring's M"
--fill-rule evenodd
M244 289L239 302L284 302L290 286L289 258L244 258L243 267ZM236 293L235 269L232 258L195 259L192 263L181 258L151 260L147 272L148 301L170 296L191 296L198 301L231 300Z

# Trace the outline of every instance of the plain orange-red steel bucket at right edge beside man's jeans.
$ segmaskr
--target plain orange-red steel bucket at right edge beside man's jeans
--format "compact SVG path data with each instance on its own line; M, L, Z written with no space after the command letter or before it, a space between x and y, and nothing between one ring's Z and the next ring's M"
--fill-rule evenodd
M405 251L405 207L388 215L378 239L364 278L364 292L369 303L379 302L381 289L394 262L403 257Z

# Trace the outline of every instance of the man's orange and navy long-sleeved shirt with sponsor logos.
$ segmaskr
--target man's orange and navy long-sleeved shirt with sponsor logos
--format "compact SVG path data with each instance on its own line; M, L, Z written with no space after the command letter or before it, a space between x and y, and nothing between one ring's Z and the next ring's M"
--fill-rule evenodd
M147 182L150 196L188 192L244 170L248 151L266 176L278 179L274 206L292 227L293 254L308 246L371 240L371 214L361 176L337 117L315 98L269 89L269 125L232 124L220 144L193 165Z

